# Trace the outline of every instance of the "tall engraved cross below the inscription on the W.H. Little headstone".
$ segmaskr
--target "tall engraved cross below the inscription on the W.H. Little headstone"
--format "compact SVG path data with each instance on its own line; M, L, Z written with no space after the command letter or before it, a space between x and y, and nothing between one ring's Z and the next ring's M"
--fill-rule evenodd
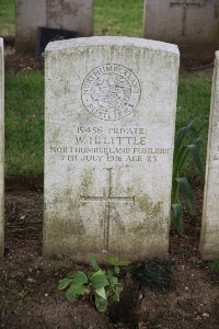
M95 201L103 201L105 202L105 209L106 209L106 219L104 220L104 248L108 250L110 248L110 225L111 225L111 204L114 201L129 201L135 204L135 196L113 196L112 195L112 169L107 168L108 171L108 190L107 194L103 196L93 196L93 195L81 195L82 202L95 202Z

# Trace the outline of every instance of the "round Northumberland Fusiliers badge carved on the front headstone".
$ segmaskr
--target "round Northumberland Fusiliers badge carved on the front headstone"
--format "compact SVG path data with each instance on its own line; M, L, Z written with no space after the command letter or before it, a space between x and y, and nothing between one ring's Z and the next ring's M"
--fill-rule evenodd
M128 68L106 64L94 68L83 80L82 102L94 116L114 121L129 115L140 100L140 83Z

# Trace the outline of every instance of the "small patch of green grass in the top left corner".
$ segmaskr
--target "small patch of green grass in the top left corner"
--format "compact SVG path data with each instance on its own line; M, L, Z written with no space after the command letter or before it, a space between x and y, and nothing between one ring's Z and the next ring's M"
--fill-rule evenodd
M14 0L0 0L0 36L14 35Z

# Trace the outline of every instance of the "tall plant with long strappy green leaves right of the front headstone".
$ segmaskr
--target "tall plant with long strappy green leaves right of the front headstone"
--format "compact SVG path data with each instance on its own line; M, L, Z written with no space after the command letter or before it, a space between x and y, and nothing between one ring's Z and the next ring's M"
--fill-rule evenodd
M183 194L188 204L189 213L194 215L195 203L194 195L187 178L181 177L182 170L188 156L192 155L194 164L197 167L201 178L204 178L204 169L200 159L200 143L204 140L199 136L204 126L196 131L193 122L180 128L176 132L174 156L173 156L173 177L172 177L172 195L171 195L171 209L172 219L174 220L176 231L184 232L183 227L183 206L180 198L180 192Z

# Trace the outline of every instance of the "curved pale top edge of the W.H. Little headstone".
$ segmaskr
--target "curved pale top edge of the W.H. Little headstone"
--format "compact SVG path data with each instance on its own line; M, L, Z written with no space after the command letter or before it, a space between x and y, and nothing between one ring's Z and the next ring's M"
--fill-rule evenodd
M74 47L120 46L138 47L171 53L180 56L178 47L174 44L128 36L91 36L66 41L56 41L47 45L45 53L68 50Z

